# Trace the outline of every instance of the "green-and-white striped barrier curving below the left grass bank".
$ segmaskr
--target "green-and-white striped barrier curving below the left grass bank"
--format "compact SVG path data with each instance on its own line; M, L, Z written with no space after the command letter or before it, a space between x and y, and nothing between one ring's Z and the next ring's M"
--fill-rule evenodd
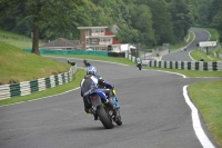
M48 78L0 86L0 100L26 96L32 92L42 91L59 85L64 85L72 80L72 75L77 71L77 65L71 67L68 72L53 75Z

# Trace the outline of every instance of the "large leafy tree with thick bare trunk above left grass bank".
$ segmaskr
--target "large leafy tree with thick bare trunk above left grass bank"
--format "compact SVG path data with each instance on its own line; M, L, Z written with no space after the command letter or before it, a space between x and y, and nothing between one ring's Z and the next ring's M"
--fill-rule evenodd
M82 0L1 0L0 12L7 13L10 9L13 9L17 4L23 3L26 11L24 18L31 18L32 20L32 53L39 53L39 31L47 24L60 26L67 29L72 24L70 21L75 12L83 6ZM8 9L9 8L9 9Z

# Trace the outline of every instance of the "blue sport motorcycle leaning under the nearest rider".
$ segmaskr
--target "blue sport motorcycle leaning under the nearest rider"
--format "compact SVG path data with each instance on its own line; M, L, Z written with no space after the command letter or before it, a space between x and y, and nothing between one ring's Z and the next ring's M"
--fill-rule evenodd
M99 89L95 90L89 90L89 97L88 97L88 102L92 105L93 108L93 114L95 114L99 118L99 120L102 122L104 128L107 129L112 129L114 125L117 124L118 126L122 125L121 116L120 116L120 105L117 99L115 90L113 89L113 96L109 99L110 102L114 105L114 109L117 114L111 110L107 103L104 103L105 100L103 100L104 93L100 91Z

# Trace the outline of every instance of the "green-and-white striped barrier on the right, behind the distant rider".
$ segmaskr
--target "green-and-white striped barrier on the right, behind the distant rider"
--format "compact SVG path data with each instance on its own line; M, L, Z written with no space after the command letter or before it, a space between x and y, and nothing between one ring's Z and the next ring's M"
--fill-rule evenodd
M125 58L135 62L135 57L125 53ZM200 71L222 71L222 62L203 62L203 61L157 61L150 60L148 67L200 70Z

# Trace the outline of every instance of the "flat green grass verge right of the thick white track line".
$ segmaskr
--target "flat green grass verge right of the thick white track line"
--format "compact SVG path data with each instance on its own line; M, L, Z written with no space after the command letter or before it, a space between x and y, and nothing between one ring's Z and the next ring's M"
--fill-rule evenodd
M189 96L200 110L209 131L222 147L222 81L199 82L188 87Z

